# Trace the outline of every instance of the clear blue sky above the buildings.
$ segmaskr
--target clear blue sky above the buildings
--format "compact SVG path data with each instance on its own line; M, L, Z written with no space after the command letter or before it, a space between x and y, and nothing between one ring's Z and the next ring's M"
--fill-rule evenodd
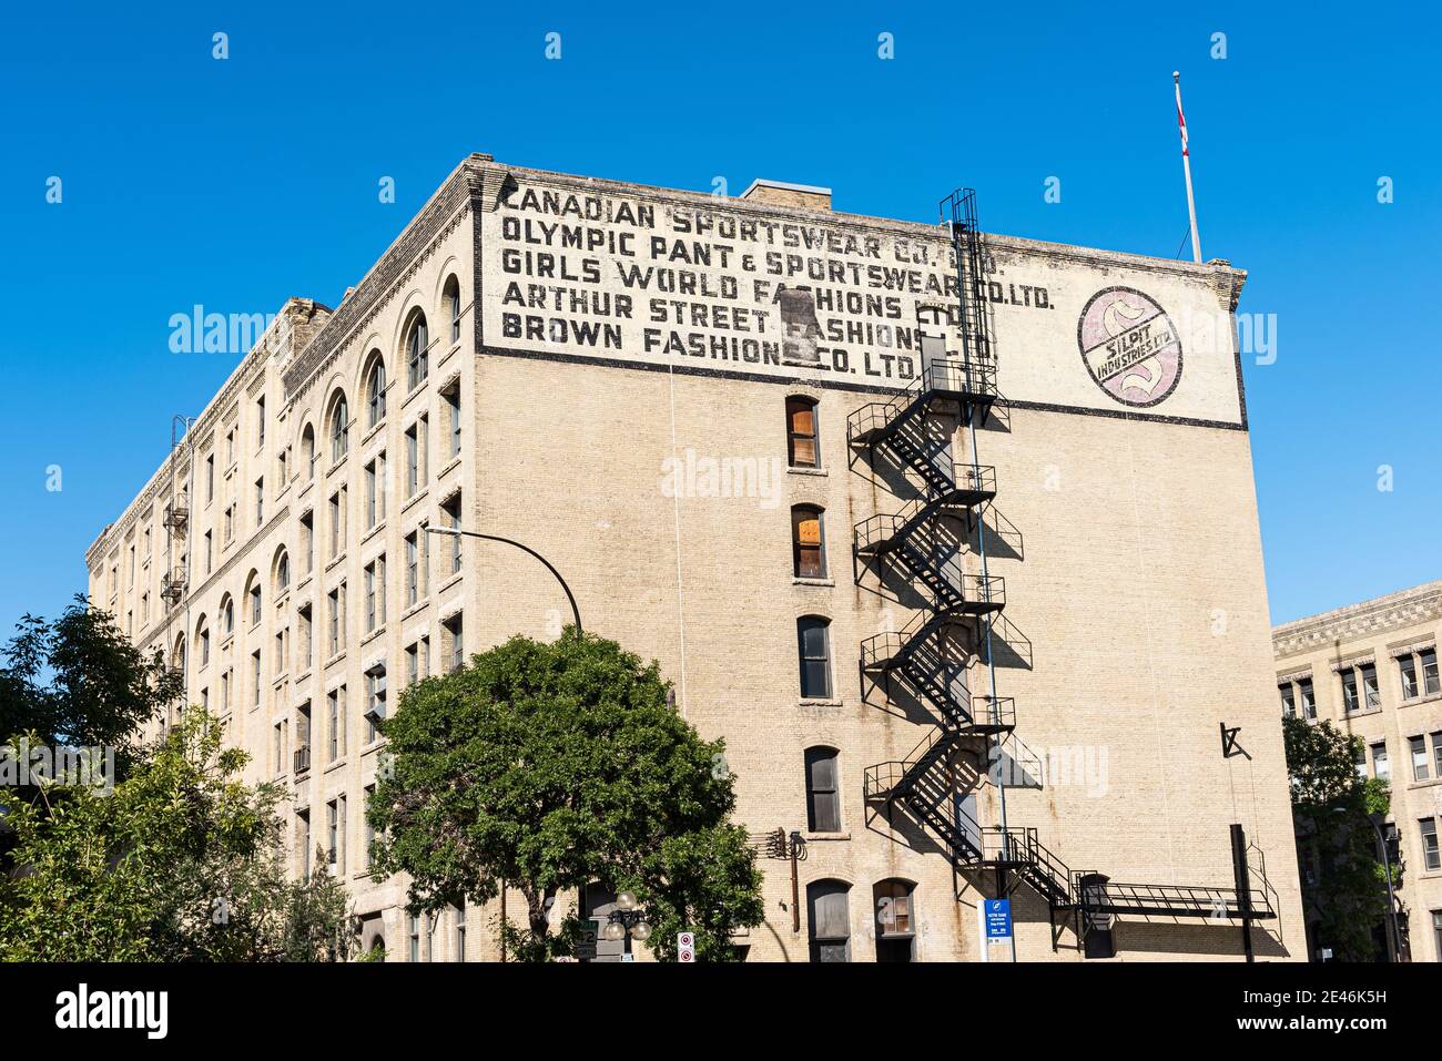
M838 209L927 222L970 185L989 231L1172 257L1172 69L1203 251L1250 270L1240 308L1278 320L1276 363L1244 365L1272 618L1442 577L1435 9L590 7L7 12L0 631L84 590L84 549L172 415L234 368L170 353L170 314L336 304L469 151L698 190L828 185Z

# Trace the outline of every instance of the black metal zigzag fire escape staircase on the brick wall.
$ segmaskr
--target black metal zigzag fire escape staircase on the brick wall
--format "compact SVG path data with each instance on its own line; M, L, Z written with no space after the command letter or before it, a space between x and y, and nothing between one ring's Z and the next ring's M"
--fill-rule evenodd
M994 871L998 894L1028 885L1047 904L1053 950L1067 914L1076 918L1079 947L1090 927L1116 914L1211 917L1250 920L1278 914L1276 892L1265 866L1255 869L1260 884L1239 888L1120 884L1096 872L1073 872L1048 851L1030 827L979 827L963 820L953 751L963 742L991 740L1015 728L1012 698L972 696L966 669L982 662L992 669L992 623L1005 607L1005 584L988 575L985 528L981 529L982 574L966 574L953 535L947 541L943 518L959 520L966 538L978 529L982 510L996 496L996 470L950 460L950 447L937 444L929 430L939 414L955 415L962 427L985 427L996 392L992 339L985 316L981 232L975 193L962 189L943 203L952 213L956 248L962 356L945 352L945 339L923 336L921 369L911 385L885 402L854 412L846 437L854 450L867 450L872 467L878 454L894 461L921 493L895 513L877 515L855 526L857 582L871 565L890 568L917 590L924 607L898 631L884 631L861 644L861 669L884 686L887 698L901 683L937 722L904 760L881 763L865 771L865 799L872 807L904 806L920 825L947 848L957 871ZM975 438L975 430L972 430ZM907 474L910 473L910 474ZM950 633L960 630L960 640ZM966 646L966 647L962 647ZM959 654L965 657L959 659ZM995 678L995 672L988 675ZM995 680L991 682L995 689ZM1243 874L1239 881L1250 881Z

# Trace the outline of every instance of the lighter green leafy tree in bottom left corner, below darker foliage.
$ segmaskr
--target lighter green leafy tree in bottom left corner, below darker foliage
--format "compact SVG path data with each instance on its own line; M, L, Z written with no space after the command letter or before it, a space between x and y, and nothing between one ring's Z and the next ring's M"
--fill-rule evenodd
M39 786L9 807L0 956L22 962L306 962L346 957L349 898L290 881L280 790L239 780L245 753L187 711L104 791ZM52 799L63 796L63 799Z

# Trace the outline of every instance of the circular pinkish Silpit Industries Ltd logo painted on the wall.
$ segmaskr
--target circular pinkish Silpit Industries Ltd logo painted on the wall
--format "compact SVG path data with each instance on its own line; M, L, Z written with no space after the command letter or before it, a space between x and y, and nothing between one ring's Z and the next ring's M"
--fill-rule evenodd
M1167 310L1131 287L1092 296L1077 346L1096 385L1122 405L1156 405L1181 381L1181 340Z

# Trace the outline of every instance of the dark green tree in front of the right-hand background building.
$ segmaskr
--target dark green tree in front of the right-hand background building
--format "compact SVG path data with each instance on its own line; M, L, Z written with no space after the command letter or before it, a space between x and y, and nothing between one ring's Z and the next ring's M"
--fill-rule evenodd
M1368 962L1373 930L1387 917L1387 871L1367 819L1387 814L1387 784L1357 774L1360 737L1298 718L1283 718L1282 731L1298 846L1317 869L1305 897L1318 920L1317 938L1338 960ZM1402 866L1393 862L1392 872L1400 888Z

